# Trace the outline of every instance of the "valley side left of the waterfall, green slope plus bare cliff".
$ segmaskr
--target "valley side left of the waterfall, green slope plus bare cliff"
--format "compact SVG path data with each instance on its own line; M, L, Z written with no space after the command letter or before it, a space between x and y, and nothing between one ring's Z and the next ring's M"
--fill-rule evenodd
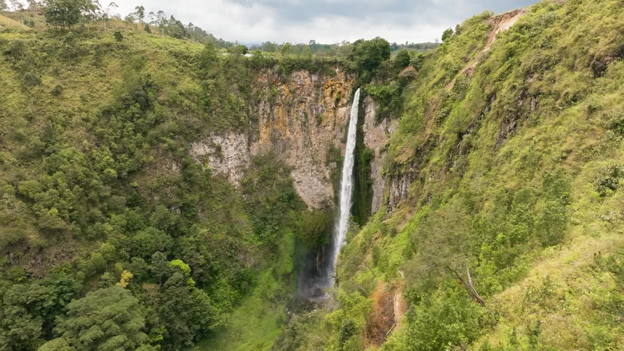
M94 345L191 349L253 306L241 345L268 349L327 240L353 77L123 28L0 27L0 349L74 345L94 296L136 312Z

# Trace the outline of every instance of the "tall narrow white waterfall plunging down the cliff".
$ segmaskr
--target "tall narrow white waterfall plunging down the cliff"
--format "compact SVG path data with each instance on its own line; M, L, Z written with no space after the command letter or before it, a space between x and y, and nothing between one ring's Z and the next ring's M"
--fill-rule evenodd
M351 117L349 117L349 131L347 134L346 151L344 152L343 175L340 179L340 208L339 217L334 226L334 237L331 245L332 252L329 254L329 262L326 272L328 287L334 285L334 272L338 253L344 245L344 237L349 228L349 214L351 213L351 195L353 194L353 165L355 162L355 143L358 127L359 88L353 96L351 104Z

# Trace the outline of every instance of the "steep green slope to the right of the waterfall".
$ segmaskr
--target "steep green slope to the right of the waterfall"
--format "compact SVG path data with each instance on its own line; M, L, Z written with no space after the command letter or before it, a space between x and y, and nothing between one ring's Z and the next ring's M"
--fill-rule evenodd
M621 347L623 16L609 0L484 13L416 62L384 205L350 235L336 300L274 349Z

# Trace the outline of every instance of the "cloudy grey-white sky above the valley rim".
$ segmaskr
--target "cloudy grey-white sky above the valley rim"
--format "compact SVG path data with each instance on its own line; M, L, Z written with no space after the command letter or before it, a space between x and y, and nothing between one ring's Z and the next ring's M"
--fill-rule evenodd
M109 0L100 0L103 6ZM485 10L505 12L537 0L117 0L125 14L142 4L193 22L216 37L243 43L334 43L376 36L426 42Z

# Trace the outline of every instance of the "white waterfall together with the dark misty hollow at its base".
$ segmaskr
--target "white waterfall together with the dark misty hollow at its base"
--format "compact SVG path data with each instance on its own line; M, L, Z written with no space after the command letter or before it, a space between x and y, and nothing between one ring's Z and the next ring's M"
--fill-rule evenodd
M355 163L356 135L359 112L359 88L353 96L349 129L347 132L346 150L344 152L343 172L340 178L340 194L338 217L336 218L333 235L329 244L317 252L314 257L308 257L305 272L299 275L298 290L300 297L311 302L323 302L326 299L324 290L333 287L336 272L336 260L349 227L349 214L353 194L353 166ZM311 262L310 262L311 261Z

